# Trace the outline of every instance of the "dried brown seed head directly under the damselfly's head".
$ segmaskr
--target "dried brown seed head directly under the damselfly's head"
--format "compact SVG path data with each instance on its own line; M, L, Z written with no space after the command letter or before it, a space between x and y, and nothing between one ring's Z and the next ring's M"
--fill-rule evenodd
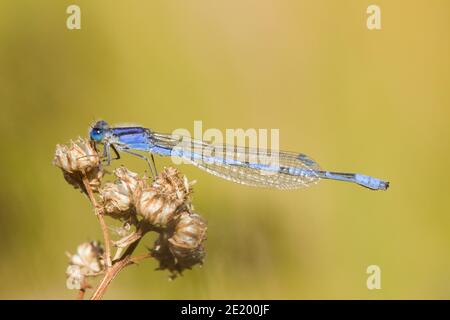
M53 164L61 168L66 181L86 193L83 176L93 191L101 184L103 172L100 169L100 156L88 140L79 138L70 145L57 145Z

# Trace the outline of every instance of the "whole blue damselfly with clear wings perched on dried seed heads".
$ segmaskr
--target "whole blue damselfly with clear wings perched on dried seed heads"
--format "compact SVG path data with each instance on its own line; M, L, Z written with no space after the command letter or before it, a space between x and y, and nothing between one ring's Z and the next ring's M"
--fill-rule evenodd
M213 175L256 187L294 189L309 186L320 179L347 181L372 190L387 190L389 182L363 174L324 171L302 153L260 148L236 147L194 140L187 136L162 134L144 127L110 127L97 121L90 130L94 143L104 146L107 164L119 152L145 159L153 176L156 166L153 155L181 158ZM147 152L150 158L138 152Z

